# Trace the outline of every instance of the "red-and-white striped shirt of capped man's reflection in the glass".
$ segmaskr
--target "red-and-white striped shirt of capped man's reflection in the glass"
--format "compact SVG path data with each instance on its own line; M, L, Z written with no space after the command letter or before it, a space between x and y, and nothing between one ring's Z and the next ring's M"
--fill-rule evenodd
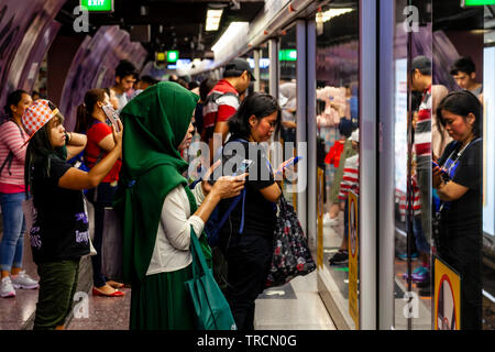
M415 151L418 168L430 167L431 162L431 86L422 94L415 130Z

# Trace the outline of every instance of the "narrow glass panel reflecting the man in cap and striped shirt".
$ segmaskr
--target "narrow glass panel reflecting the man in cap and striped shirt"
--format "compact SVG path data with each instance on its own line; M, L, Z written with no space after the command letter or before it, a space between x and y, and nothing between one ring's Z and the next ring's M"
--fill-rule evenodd
M395 321L431 329L431 1L397 1L395 74Z

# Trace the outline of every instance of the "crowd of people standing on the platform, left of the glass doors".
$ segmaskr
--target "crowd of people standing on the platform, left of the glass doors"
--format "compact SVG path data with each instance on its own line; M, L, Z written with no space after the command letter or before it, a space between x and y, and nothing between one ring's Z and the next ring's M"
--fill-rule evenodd
M189 84L175 76L167 81L139 77L133 64L122 61L112 87L86 92L74 131L65 129L64 116L50 99L33 99L22 90L10 94L8 119L0 127L0 157L6 161L0 170L1 297L38 288L34 329L64 329L80 260L90 255L92 295L122 297L121 288L131 287L130 329L194 329L184 285L193 277L194 233L215 273L226 274L224 294L238 328L254 329L254 300L265 287L282 195L274 173L284 164L274 170L257 150L246 173L213 179L210 175L230 157L219 150L223 163L210 166L213 153L204 155L206 173L189 187L183 157L194 134L211 143L213 133L220 133L222 145L240 142L249 155L253 142L278 131L277 99L246 95L253 79L242 58L227 64L219 81ZM210 246L205 224L241 193L242 207L231 212L219 229L219 243ZM102 268L109 207L123 226L122 282L106 277ZM26 230L38 282L22 270Z

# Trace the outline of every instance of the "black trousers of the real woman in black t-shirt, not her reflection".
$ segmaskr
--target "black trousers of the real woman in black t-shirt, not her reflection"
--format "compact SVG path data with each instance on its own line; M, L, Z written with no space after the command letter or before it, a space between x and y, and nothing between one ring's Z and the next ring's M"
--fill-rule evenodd
M228 263L229 301L239 330L254 330L254 300L263 293L272 263L273 241L243 234L221 246Z

